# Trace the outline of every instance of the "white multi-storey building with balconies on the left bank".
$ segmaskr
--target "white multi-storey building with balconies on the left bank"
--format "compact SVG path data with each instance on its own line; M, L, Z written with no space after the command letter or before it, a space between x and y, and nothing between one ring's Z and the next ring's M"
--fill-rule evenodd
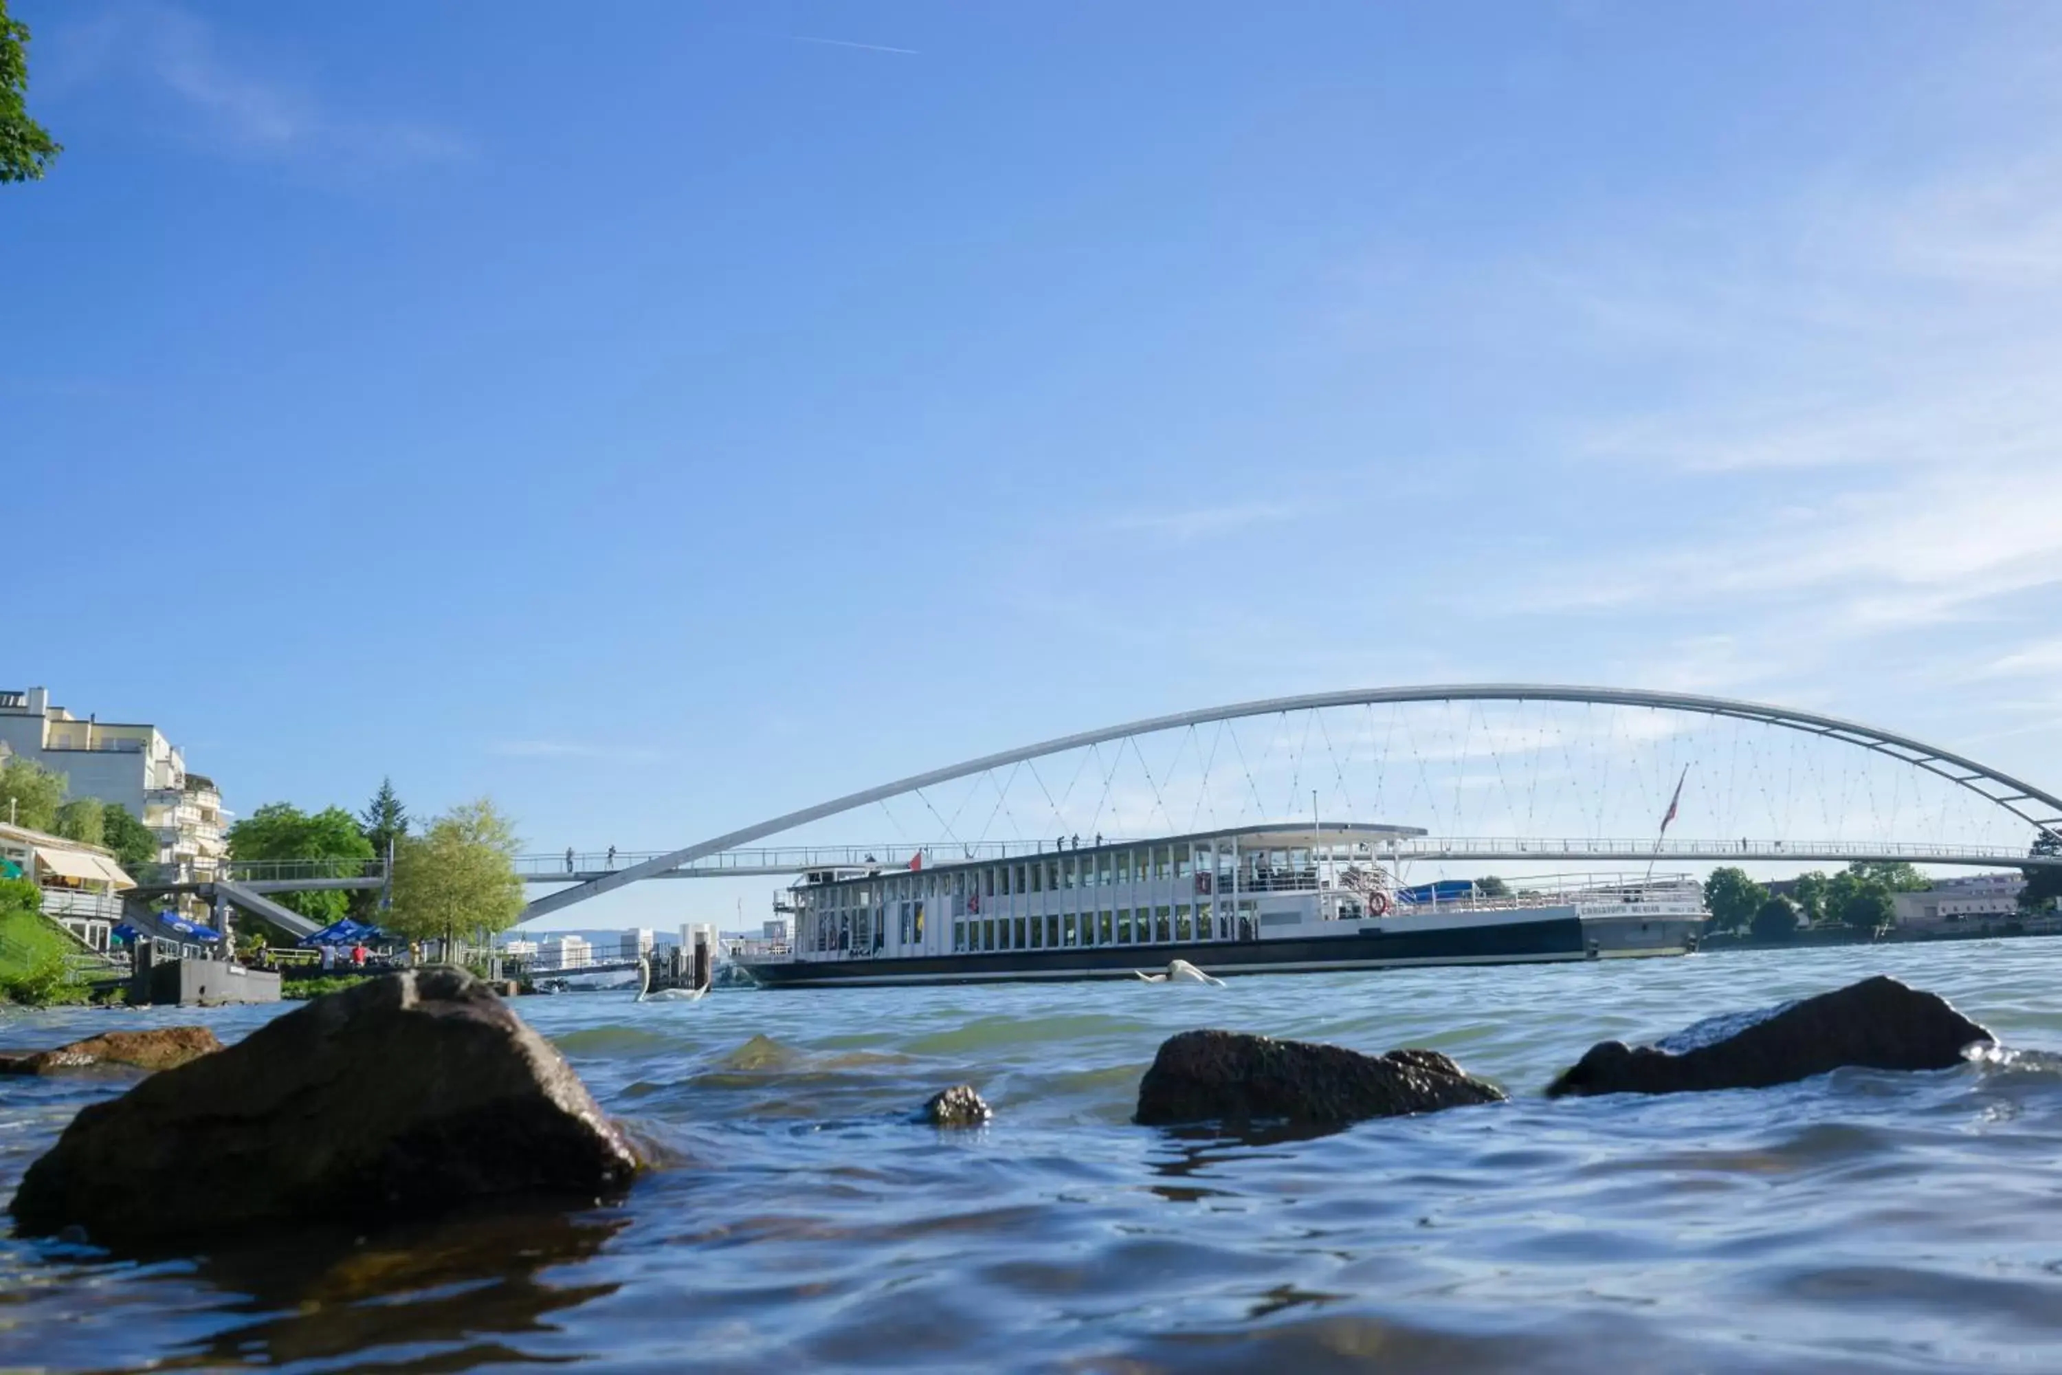
M0 757L43 765L72 798L128 808L157 833L157 862L208 878L229 851L229 812L214 781L186 771L186 757L157 726L78 719L49 705L49 689L0 691Z

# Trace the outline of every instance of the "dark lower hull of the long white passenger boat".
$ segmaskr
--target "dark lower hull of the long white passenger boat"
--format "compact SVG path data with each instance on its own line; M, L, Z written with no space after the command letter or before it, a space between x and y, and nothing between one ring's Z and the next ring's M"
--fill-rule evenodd
M796 961L740 961L767 987L864 987L885 983L1035 983L1054 979L1130 979L1184 959L1219 977L1241 973L1326 973L1412 965L1528 965L1594 959L1584 919L1573 911L1530 921L1406 930L1398 924L1346 924L1324 936L1268 940L1188 940L1136 946L1070 946L986 954L913 954ZM1662 954L1664 950L1654 950ZM1681 950L1674 950L1681 954Z

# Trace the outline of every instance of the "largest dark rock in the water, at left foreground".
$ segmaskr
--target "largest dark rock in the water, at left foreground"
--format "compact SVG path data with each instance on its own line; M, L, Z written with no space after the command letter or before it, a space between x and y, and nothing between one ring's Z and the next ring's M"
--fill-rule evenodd
M586 1084L462 969L367 979L72 1119L21 1181L27 1235L177 1245L503 1194L592 1200L637 1169Z

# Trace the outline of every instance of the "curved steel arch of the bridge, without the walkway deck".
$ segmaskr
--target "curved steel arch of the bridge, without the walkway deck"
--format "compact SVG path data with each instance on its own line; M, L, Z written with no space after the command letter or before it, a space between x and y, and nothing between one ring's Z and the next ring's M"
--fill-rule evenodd
M1087 748L1091 744L1103 744L1107 740L1122 740L1126 736L1149 736L1161 730L1182 730L1186 726L1208 726L1210 722L1233 722L1250 715L1276 715L1285 711L1309 711L1318 707L1361 707L1361 705L1382 705L1382 703L1423 703L1423 701L1571 701L1590 703L1600 707L1658 707L1666 711L1701 711L1705 715L1724 715L1740 722L1761 722L1765 726L1782 726L1786 730L1796 730L1808 736L1821 736L1829 740L1839 740L1843 744L1854 744L1864 750L1874 750L1876 754L1887 754L1891 759L1903 761L1914 769L1924 769L1934 773L1959 787L1973 792L1986 802L2004 808L2006 812L2019 816L2029 827L2039 833L2062 835L2062 798L2035 787L2023 779L2015 779L2008 773L1998 773L1986 765L1975 763L1965 754L1955 750L1942 750L1938 746L1926 744L1924 740L1914 740L1911 736L1899 736L1889 730L1876 730L1874 726L1862 726L1860 722L1843 722L1835 715L1819 715L1815 711L1792 711L1790 707L1773 707L1769 703L1757 701L1736 701L1730 697L1699 697L1695 693L1650 693L1641 689L1598 689L1598 686L1557 686L1544 682L1450 682L1433 686L1396 686L1396 689L1344 689L1338 693L1305 693L1299 697L1268 697L1262 701L1241 701L1229 707L1202 707L1198 711L1175 711L1173 715L1155 715L1140 722L1126 722L1122 726L1107 726L1103 730L1085 730L1072 736L1058 736L1054 740L1041 740L1039 744L1027 744L1017 750L1002 750L1000 754L984 754L979 759L969 759L959 765L949 765L944 769L932 769L928 773L913 773L905 779L893 783L883 783L878 787L868 787L864 792L845 794L843 798L831 798L829 802L819 802L817 806L806 806L798 812L786 812L769 820L761 820L738 831L728 831L707 841L687 845L683 849L672 849L662 856L654 856L625 870L602 874L598 878L588 878L559 893L536 899L524 909L524 919L540 917L548 911L561 907L571 907L573 903L584 903L590 897L600 897L612 888L621 888L627 882L637 882L639 878L652 878L668 870L680 868L683 864L693 864L705 856L722 853L724 849L734 849L738 845L749 845L767 835L779 835L781 831L792 831L794 827L806 827L812 820L823 820L825 816L837 816L839 812L850 812L872 802L883 802L887 798L897 798L920 787L932 787L936 783L951 783L953 779L971 777L975 773L986 773L990 769L1000 769L1004 765L1023 763L1027 759L1043 759L1045 754L1064 754L1066 750Z

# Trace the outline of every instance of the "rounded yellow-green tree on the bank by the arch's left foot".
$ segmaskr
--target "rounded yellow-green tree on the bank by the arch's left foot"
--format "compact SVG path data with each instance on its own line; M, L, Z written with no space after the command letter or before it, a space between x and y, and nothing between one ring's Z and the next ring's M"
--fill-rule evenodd
M454 806L394 851L394 909L381 926L412 940L480 944L522 915L516 829L487 798ZM445 954L450 959L450 954Z

